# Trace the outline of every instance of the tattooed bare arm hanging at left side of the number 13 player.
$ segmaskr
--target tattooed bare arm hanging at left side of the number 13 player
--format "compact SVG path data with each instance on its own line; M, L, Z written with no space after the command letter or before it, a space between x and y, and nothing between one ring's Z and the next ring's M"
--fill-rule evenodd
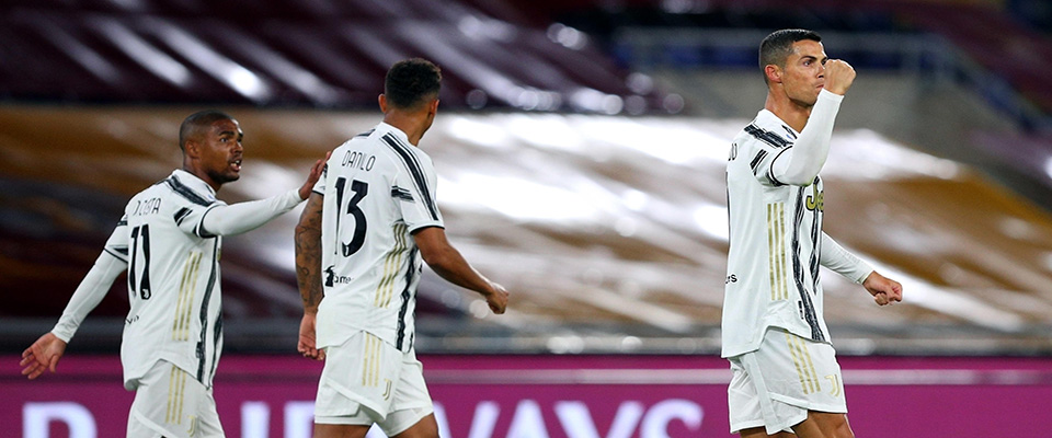
M313 193L296 226L296 281L304 300L304 319L299 324L297 350L304 357L321 360L324 351L317 348L315 322L318 304L324 296L321 287L321 207L324 197Z

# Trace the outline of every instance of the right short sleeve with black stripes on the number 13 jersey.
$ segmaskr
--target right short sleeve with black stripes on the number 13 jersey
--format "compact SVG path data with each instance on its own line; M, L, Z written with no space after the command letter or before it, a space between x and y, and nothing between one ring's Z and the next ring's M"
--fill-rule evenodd
M437 176L430 161L403 162L391 185L391 197L402 214L409 231L426 227L445 227L435 203Z

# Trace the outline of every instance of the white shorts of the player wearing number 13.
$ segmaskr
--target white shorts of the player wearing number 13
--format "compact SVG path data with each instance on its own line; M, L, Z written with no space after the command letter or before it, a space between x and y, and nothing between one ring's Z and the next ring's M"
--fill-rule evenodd
M325 348L325 368L315 401L315 423L377 424L398 435L434 412L416 351L399 351L358 332Z

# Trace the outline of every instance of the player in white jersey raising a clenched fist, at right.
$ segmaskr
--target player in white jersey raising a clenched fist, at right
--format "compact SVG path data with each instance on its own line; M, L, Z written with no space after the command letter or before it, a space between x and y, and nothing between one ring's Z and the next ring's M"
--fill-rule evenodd
M822 231L819 171L855 70L828 59L821 37L803 30L770 34L759 55L765 108L734 137L727 165L722 356L733 371L731 433L853 437L819 267L861 284L878 304L902 299L899 283Z

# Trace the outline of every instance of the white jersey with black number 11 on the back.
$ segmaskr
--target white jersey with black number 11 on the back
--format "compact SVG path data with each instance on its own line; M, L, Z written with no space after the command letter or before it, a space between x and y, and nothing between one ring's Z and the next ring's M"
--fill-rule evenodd
M222 238L201 223L220 205L208 184L176 170L128 201L106 242L105 251L128 264L132 309L121 344L125 385L164 359L211 387L222 350Z

